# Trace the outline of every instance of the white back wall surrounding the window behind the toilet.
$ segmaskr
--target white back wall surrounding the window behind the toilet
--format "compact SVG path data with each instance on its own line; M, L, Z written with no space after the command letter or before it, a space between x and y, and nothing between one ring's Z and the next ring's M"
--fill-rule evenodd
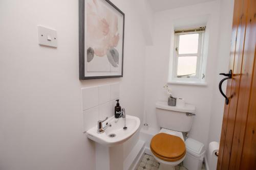
M193 19L197 25L197 18L206 18L207 30L209 31L208 60L206 70L207 86L192 85L169 85L176 97L185 99L186 103L196 106L196 117L189 136L208 145L208 130L212 107L212 95L214 93L214 79L216 77L218 35L219 35L219 11L220 2L212 1L158 12L154 16L153 46L147 47L146 58L146 88L145 88L145 111L147 123L151 128L158 129L155 114L155 103L167 101L168 95L163 89L168 78L169 57L172 54L172 31L175 22L179 20L183 26L190 26L193 22L186 22L188 18ZM213 106L215 107L215 106Z

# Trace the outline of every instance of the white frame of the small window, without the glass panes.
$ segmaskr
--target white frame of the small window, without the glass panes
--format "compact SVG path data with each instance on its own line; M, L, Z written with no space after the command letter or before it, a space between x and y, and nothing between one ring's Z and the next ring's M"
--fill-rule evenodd
M180 35L185 34L199 34L198 36L198 53L196 54L179 54L179 37ZM201 81L204 78L202 74L202 60L203 60L203 39L204 39L204 32L203 31L193 31L193 32L185 32L185 33L175 33L174 39L174 64L173 64L173 80L177 81ZM178 58L179 57L188 57L188 56L197 56L197 68L196 68L196 75L195 76L185 76L185 77L178 77Z

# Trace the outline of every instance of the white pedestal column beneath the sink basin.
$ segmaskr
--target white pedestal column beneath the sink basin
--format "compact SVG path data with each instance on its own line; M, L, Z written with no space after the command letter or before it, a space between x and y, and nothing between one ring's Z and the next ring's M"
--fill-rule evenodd
M95 142L96 170L123 169L123 144L107 147Z

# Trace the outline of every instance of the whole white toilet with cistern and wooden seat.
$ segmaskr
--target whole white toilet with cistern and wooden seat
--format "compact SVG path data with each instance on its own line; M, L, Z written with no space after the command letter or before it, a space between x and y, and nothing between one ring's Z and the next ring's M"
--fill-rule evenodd
M160 169L174 169L186 156L182 132L191 129L195 106L168 106L167 102L156 103L156 115L161 130L151 139L150 148Z

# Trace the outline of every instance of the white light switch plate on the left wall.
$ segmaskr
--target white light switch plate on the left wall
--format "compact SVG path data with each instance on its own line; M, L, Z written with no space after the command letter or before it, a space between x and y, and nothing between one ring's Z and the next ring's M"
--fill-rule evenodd
M57 31L42 26L37 26L38 43L40 45L57 47Z

